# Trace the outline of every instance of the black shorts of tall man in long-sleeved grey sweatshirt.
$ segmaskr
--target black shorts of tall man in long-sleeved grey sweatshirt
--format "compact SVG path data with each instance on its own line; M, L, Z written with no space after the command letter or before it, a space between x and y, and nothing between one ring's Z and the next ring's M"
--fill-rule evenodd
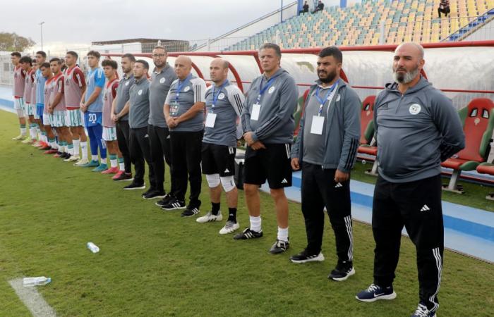
M245 159L246 184L262 185L272 189L291 186L290 144L264 144L266 149L254 151L247 147Z

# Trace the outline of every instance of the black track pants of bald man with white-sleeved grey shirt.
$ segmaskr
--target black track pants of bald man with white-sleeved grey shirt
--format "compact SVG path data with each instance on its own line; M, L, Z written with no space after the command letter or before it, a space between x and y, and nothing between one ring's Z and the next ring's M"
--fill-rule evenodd
M175 186L174 197L185 201L187 178L191 184L189 206L200 206L199 194L202 182L200 172L203 131L174 132L170 131L171 144L171 183Z

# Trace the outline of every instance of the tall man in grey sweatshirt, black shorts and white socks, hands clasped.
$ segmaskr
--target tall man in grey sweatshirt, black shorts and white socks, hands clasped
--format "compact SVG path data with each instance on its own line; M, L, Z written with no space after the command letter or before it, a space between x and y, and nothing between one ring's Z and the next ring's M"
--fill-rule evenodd
M259 49L263 75L253 80L243 105L242 128L247 149L244 191L251 227L234 238L245 240L263 236L260 218L259 185L266 179L275 201L278 235L270 252L289 248L288 201L284 187L291 186L290 146L294 137L293 113L298 89L293 77L280 68L281 50L266 43Z

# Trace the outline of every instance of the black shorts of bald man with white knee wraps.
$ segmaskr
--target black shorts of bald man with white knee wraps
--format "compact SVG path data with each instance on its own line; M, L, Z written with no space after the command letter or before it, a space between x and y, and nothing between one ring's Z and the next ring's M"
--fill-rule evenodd
M203 142L201 150L203 174L235 175L235 147Z

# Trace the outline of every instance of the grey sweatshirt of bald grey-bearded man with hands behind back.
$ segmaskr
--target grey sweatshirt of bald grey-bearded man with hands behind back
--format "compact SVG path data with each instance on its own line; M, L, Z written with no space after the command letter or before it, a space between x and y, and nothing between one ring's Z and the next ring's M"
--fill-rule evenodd
M440 163L465 147L451 100L421 80L402 95L387 84L374 105L379 174L388 182L413 182L441 173Z

